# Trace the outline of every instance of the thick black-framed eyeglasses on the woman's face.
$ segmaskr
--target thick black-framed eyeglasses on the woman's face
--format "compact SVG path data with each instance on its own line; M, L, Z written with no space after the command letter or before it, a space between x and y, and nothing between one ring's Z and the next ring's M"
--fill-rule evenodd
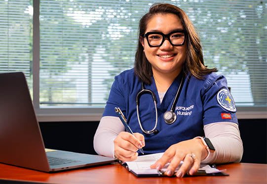
M187 32L184 30L172 31L165 35L161 32L148 32L143 37L147 38L150 47L162 46L164 41L168 39L172 46L182 46L185 44Z

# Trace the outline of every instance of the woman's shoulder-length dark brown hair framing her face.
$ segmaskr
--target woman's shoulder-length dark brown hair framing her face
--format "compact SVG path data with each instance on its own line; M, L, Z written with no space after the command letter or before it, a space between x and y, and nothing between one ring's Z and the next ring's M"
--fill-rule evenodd
M139 42L135 53L134 63L134 72L139 79L145 84L151 84L151 76L153 75L152 66L146 58L140 39L143 39L142 36L145 34L147 24L154 15L167 13L177 15L182 21L184 29L187 31L187 56L183 65L183 72L185 74L190 73L197 79L202 79L202 76L210 74L211 72L217 72L218 70L216 68L208 69L204 65L200 39L187 14L181 8L175 5L168 3L156 3L150 7L149 12L145 14L139 21Z

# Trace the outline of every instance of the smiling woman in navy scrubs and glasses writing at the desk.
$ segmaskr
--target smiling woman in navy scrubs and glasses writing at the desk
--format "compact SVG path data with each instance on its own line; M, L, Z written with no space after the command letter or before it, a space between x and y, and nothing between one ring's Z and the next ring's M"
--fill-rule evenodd
M165 152L151 168L170 162L171 176L183 160L179 178L193 175L200 162L239 162L243 146L227 81L204 65L186 13L171 4L152 5L140 20L139 41L134 69L115 77L94 137L96 152L123 161L135 160L139 148L145 154ZM138 94L142 89L155 94L155 104L150 92ZM134 135L124 132L115 107Z

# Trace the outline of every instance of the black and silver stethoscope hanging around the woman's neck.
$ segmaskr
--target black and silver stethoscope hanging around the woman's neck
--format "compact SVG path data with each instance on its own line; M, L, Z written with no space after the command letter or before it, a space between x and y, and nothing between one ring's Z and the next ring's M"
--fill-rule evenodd
M184 76L182 77L182 80L181 80L181 83L179 85L179 88L176 92L176 95L175 95L175 98L174 98L174 101L172 103L172 106L171 106L171 109L166 111L163 115L163 119L165 121L165 123L167 124L173 124L177 118L176 114L174 113L175 111L175 104L177 103L178 101L178 98L180 96L180 93L181 93L181 90L182 90L182 86L183 86L183 83L184 83ZM138 119L138 123L140 125L140 128L141 130L145 133L145 134L157 134L159 131L156 129L156 126L157 126L157 108L156 108L156 97L155 97L155 94L151 91L151 90L147 90L145 89L144 87L144 84L143 82L141 83L141 91L138 92L138 94L136 95L136 111L137 111L137 119ZM143 129L143 126L141 124L141 121L140 121L140 117L139 117L139 99L141 97L142 94L145 94L145 93L149 93L152 95L152 98L153 98L153 102L154 102L154 106L155 106L155 114L156 114L156 120L155 120L155 126L152 130L145 130Z

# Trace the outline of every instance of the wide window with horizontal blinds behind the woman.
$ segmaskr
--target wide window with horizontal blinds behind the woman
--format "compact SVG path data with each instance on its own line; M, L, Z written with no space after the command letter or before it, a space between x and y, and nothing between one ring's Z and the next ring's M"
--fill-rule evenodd
M205 64L227 77L238 110L266 110L267 1L164 2L187 12L200 35ZM38 114L98 113L99 118L114 76L133 67L138 21L152 4L151 0L1 1L0 72L25 72L30 89L36 89ZM34 24L33 9L39 14ZM34 30L34 43L39 44L34 52L33 27L39 28Z

